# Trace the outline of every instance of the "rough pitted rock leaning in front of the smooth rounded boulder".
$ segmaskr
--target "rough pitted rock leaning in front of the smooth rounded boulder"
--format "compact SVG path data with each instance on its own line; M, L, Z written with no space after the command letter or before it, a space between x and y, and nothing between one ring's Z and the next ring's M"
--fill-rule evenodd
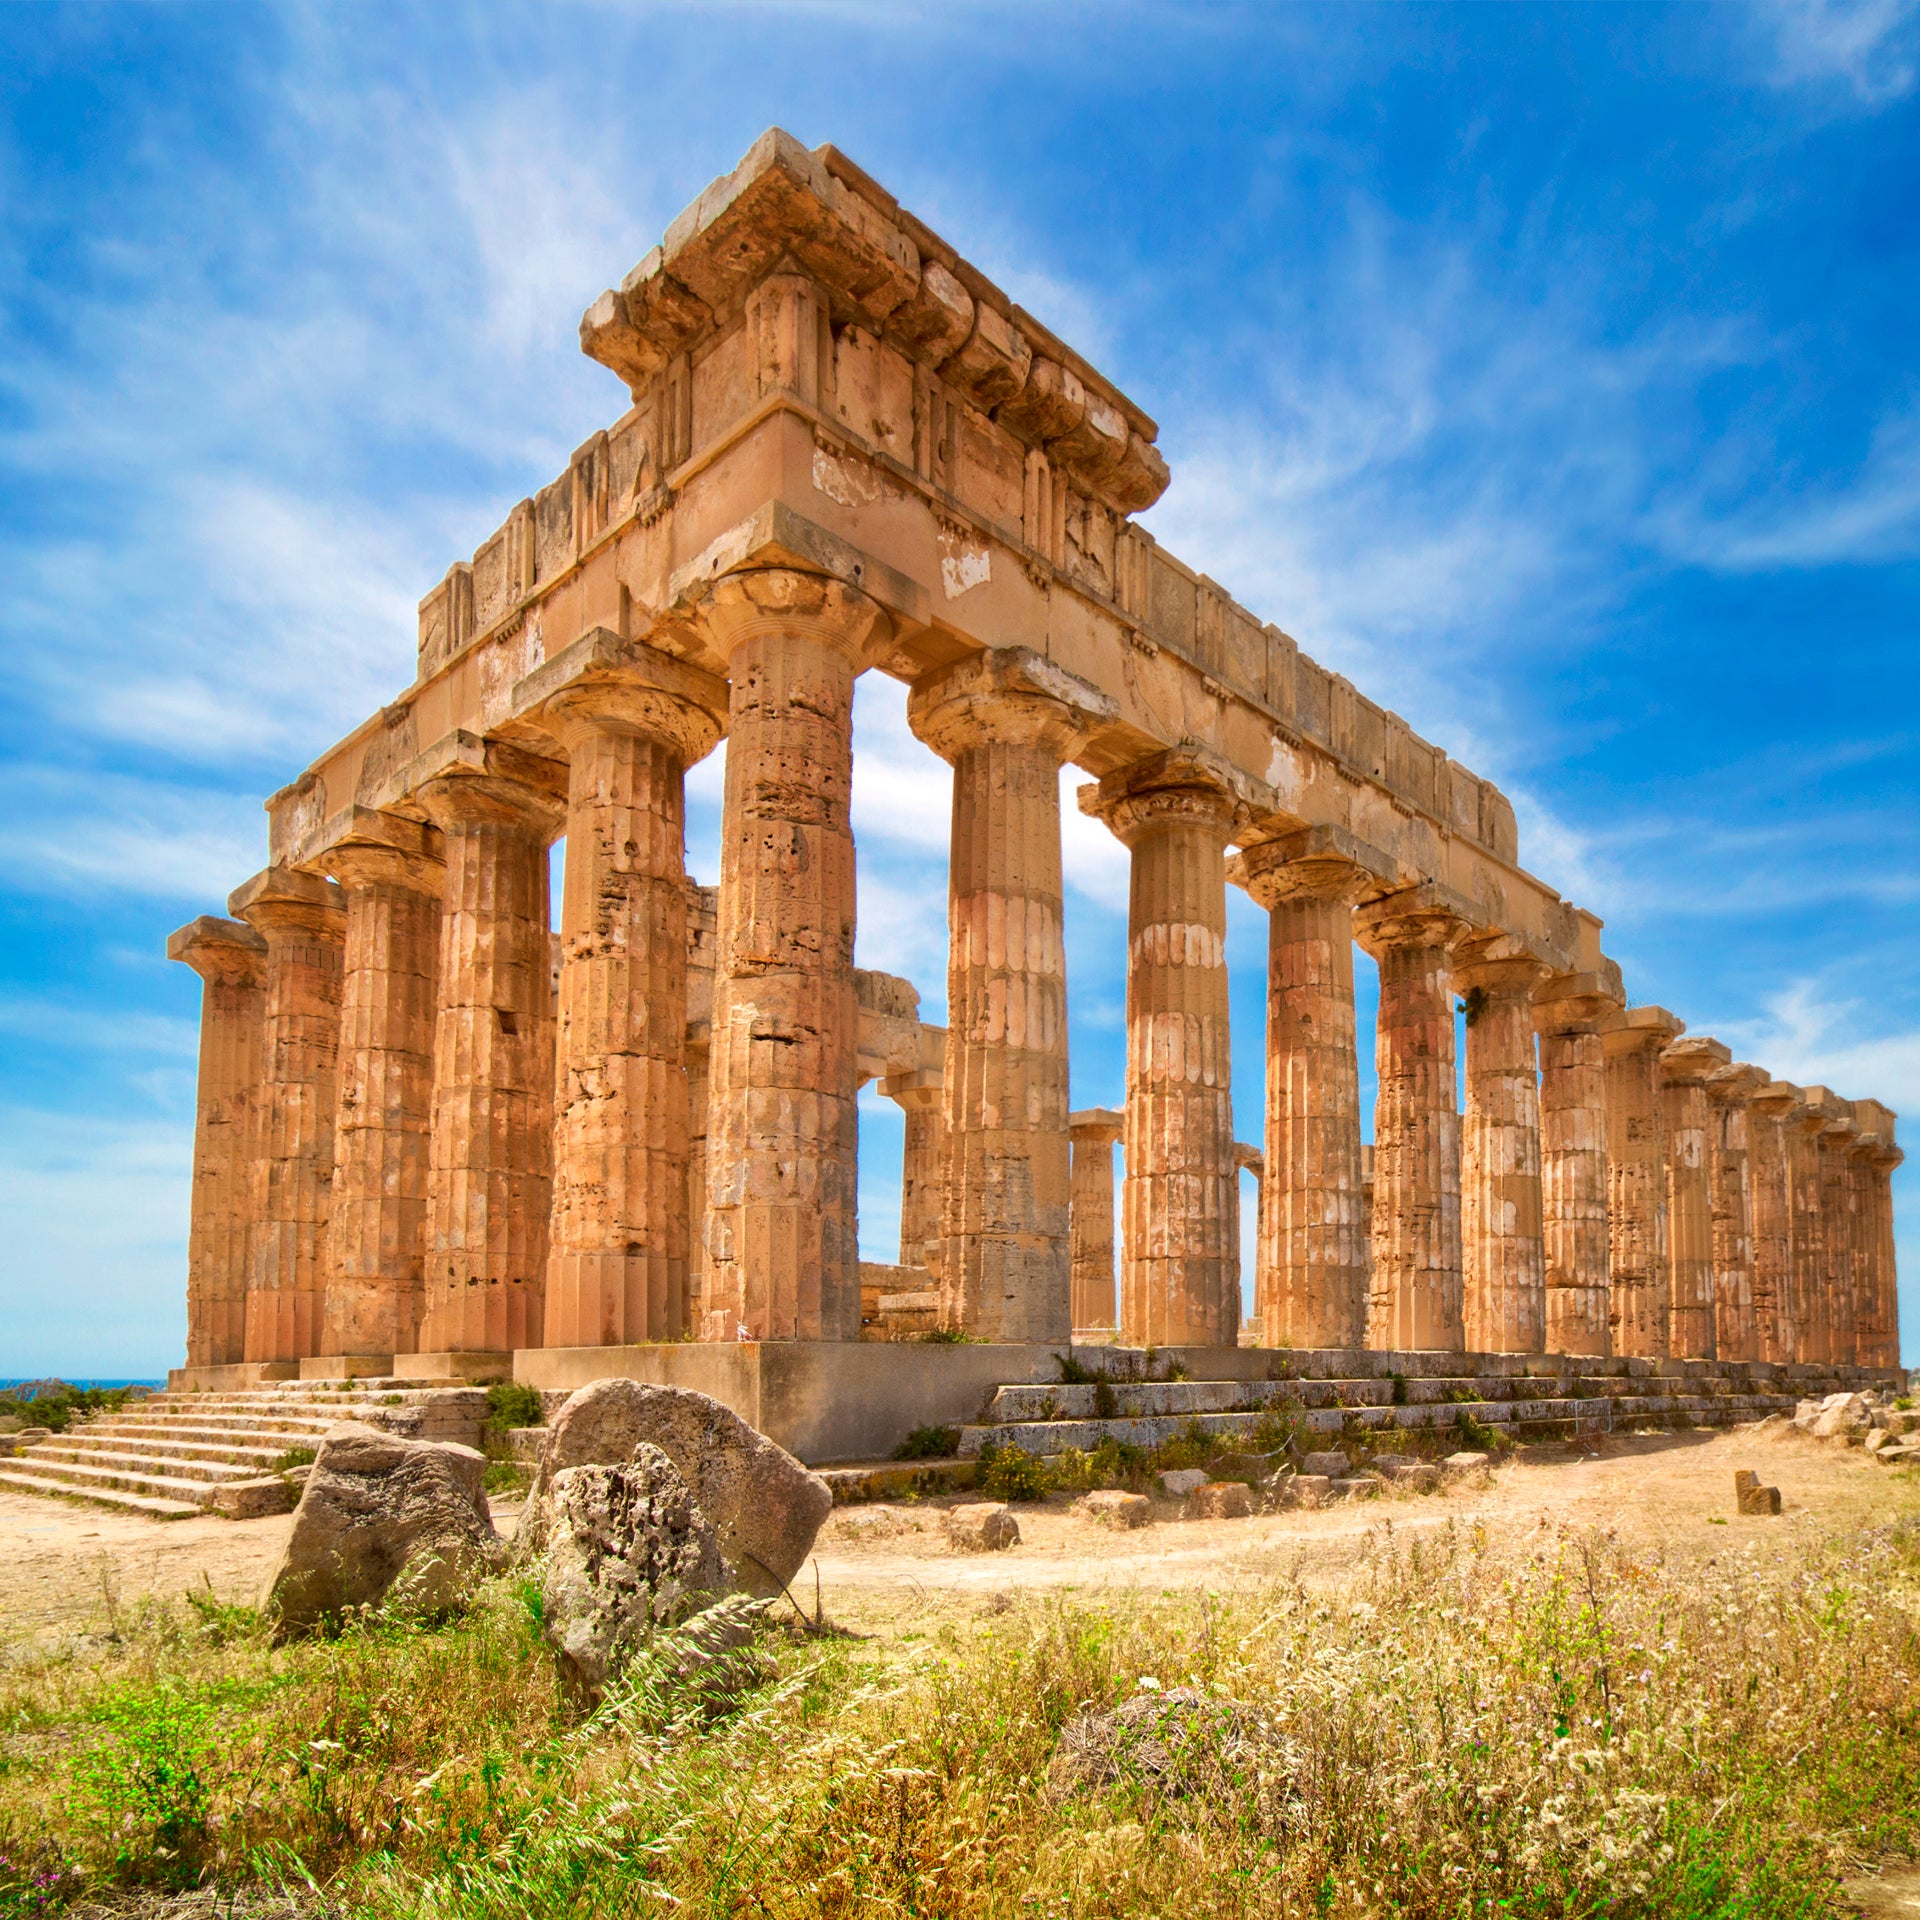
M674 1463L641 1440L618 1467L563 1467L547 1488L540 1620L568 1678L599 1699L634 1649L726 1590L720 1544Z

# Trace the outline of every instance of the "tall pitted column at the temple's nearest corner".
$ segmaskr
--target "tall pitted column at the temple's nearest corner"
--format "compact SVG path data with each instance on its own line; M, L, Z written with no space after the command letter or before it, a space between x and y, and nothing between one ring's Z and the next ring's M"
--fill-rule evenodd
M852 684L887 643L856 589L768 568L705 601L728 660L707 1129L705 1338L856 1340Z

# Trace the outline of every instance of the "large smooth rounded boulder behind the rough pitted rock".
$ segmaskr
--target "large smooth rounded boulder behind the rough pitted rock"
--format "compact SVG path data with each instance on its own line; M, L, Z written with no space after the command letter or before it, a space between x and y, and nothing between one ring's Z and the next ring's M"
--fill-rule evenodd
M593 1380L553 1417L526 1496L522 1544L543 1544L557 1475L622 1465L641 1444L680 1469L720 1544L728 1584L772 1597L793 1580L833 1511L833 1490L732 1407L645 1380Z

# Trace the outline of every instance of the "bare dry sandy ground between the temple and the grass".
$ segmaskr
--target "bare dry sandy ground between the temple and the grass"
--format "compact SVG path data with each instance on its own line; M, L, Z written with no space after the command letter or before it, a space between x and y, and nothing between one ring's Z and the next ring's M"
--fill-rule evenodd
M1225 1588L1275 1576L1336 1576L1369 1528L1440 1528L1480 1521L1496 1528L1567 1523L1613 1528L1668 1557L1707 1561L1728 1548L1862 1519L1920 1513L1920 1476L1885 1473L1859 1452L1814 1442L1768 1423L1736 1432L1611 1438L1603 1452L1526 1448L1490 1480L1442 1496L1390 1496L1321 1513L1250 1521L1158 1521L1112 1532L1075 1519L1064 1500L1021 1507L1020 1546L1006 1553L954 1553L939 1509L950 1501L895 1503L900 1530L874 1526L874 1509L841 1509L797 1582L804 1605L818 1594L831 1619L858 1632L912 1632L956 1603L993 1607L1016 1590L1181 1586ZM1780 1486L1780 1519L1734 1513L1734 1471L1753 1467ZM511 1530L515 1509L495 1503ZM1716 1524L1724 1523L1724 1524ZM144 1594L211 1586L252 1601L286 1538L267 1521L144 1521L108 1509L0 1494L0 1636L75 1628ZM881 1523L885 1526L885 1523Z

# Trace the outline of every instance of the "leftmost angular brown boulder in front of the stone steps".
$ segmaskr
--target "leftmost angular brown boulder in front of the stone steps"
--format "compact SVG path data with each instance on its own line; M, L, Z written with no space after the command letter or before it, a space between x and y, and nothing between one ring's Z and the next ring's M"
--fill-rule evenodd
M357 1421L328 1427L261 1611L276 1638L382 1601L442 1615L499 1565L468 1446L403 1440Z

